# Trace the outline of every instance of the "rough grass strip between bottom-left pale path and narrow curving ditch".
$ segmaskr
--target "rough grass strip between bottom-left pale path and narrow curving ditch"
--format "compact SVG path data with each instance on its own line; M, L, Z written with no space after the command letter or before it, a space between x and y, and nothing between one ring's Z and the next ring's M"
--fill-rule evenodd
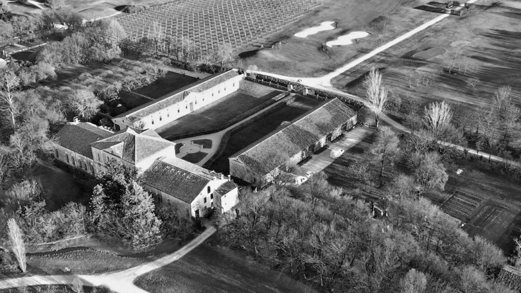
M119 257L110 252L86 249L54 255L31 255L27 263L48 275L64 274L65 267L70 268L72 274L101 274L126 270L150 260Z

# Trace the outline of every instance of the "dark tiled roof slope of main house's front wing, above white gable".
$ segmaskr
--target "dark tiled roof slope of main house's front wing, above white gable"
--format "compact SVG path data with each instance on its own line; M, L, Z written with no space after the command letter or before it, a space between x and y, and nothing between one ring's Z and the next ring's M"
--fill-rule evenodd
M142 178L146 185L186 203L192 203L212 180L160 160L156 160Z

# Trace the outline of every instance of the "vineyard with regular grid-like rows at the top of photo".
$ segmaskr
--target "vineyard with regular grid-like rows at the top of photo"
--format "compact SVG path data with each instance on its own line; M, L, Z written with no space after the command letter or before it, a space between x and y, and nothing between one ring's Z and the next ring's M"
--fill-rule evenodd
M236 51L299 19L319 5L318 0L189 0L172 1L118 17L130 42L154 35L190 39L201 55L229 43ZM159 44L167 51L166 41Z

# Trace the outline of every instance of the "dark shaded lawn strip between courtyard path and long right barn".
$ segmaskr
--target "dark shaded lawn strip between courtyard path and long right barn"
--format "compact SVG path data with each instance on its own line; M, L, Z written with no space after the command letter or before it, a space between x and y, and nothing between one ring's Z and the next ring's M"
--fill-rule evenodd
M295 101L301 99L306 100L306 104L315 103L315 105L318 105L320 103L319 100L309 99L303 96L297 97ZM272 112L260 119L255 119L255 121L246 127L231 133L225 151L214 162L214 164L210 166L210 169L219 173L228 174L230 171L228 162L229 156L244 149L246 146L254 143L258 139L263 138L271 131L274 131L282 124L283 121L293 120L307 111L307 109L303 108L282 105L281 107L277 108L275 112Z

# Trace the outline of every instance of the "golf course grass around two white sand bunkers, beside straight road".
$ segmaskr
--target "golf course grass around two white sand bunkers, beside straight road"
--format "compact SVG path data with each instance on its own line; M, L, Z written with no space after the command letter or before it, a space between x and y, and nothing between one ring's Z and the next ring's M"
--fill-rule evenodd
M313 13L271 36L267 41L269 44L264 45L265 49L256 56L245 58L244 63L288 76L321 76L438 16L414 9L425 3L425 0L325 1ZM337 28L307 38L294 36L296 32L317 26L322 21L336 21ZM350 45L328 48L329 56L324 60L326 54L320 52L322 44L353 31L367 31L370 35ZM267 48L279 41L282 44L276 50Z

